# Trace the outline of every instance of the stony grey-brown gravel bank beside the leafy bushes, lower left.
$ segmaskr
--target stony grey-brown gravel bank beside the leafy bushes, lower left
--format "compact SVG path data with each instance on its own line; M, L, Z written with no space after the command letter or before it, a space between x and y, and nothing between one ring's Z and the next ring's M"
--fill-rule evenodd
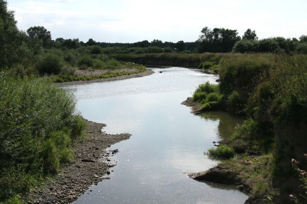
M112 144L129 139L127 133L108 135L101 132L105 124L85 120L87 138L76 144L75 160L58 172L55 179L43 188L30 191L29 203L70 203L91 185L108 179L110 167L115 165L112 156L118 149L106 150Z

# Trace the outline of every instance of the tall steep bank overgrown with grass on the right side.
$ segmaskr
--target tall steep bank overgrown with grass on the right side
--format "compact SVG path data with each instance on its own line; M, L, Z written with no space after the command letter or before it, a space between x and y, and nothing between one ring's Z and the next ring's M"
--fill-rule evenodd
M233 55L219 65L221 83L200 85L192 100L201 104L201 111L220 109L246 117L223 145L249 157L272 154L271 173L257 182L272 185L282 203L294 202L293 196L298 203L305 202L306 179L291 161L295 159L300 170L307 169L307 56ZM253 194L266 196L267 190L261 188Z

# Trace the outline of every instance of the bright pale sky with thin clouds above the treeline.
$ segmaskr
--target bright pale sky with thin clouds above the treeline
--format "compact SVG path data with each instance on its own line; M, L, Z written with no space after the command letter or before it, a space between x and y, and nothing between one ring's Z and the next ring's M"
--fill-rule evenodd
M261 38L307 34L306 0L7 0L20 30L43 26L52 39L191 42L204 27L250 28Z

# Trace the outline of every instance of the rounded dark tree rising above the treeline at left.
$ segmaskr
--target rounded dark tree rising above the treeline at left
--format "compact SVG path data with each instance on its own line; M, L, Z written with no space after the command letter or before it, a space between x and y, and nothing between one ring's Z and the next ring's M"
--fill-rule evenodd
M43 26L34 26L27 30L30 39L39 39L43 47L49 47L51 44L51 33Z

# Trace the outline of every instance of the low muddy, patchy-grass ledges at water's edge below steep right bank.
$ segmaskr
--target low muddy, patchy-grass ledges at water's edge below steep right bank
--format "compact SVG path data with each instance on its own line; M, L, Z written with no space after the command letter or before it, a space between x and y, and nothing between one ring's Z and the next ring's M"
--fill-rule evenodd
M181 104L190 107L191 113L194 115L200 115L204 112L201 103L194 102L192 97L188 97ZM284 196L280 196L270 180L272 155L254 155L255 152L249 149L247 142L244 145L242 143L234 144L235 142L224 139L218 141L217 145L229 145L230 143L237 154L235 159L223 160L207 171L190 173L188 176L197 181L235 185L249 196L245 203L283 203L282 197Z

